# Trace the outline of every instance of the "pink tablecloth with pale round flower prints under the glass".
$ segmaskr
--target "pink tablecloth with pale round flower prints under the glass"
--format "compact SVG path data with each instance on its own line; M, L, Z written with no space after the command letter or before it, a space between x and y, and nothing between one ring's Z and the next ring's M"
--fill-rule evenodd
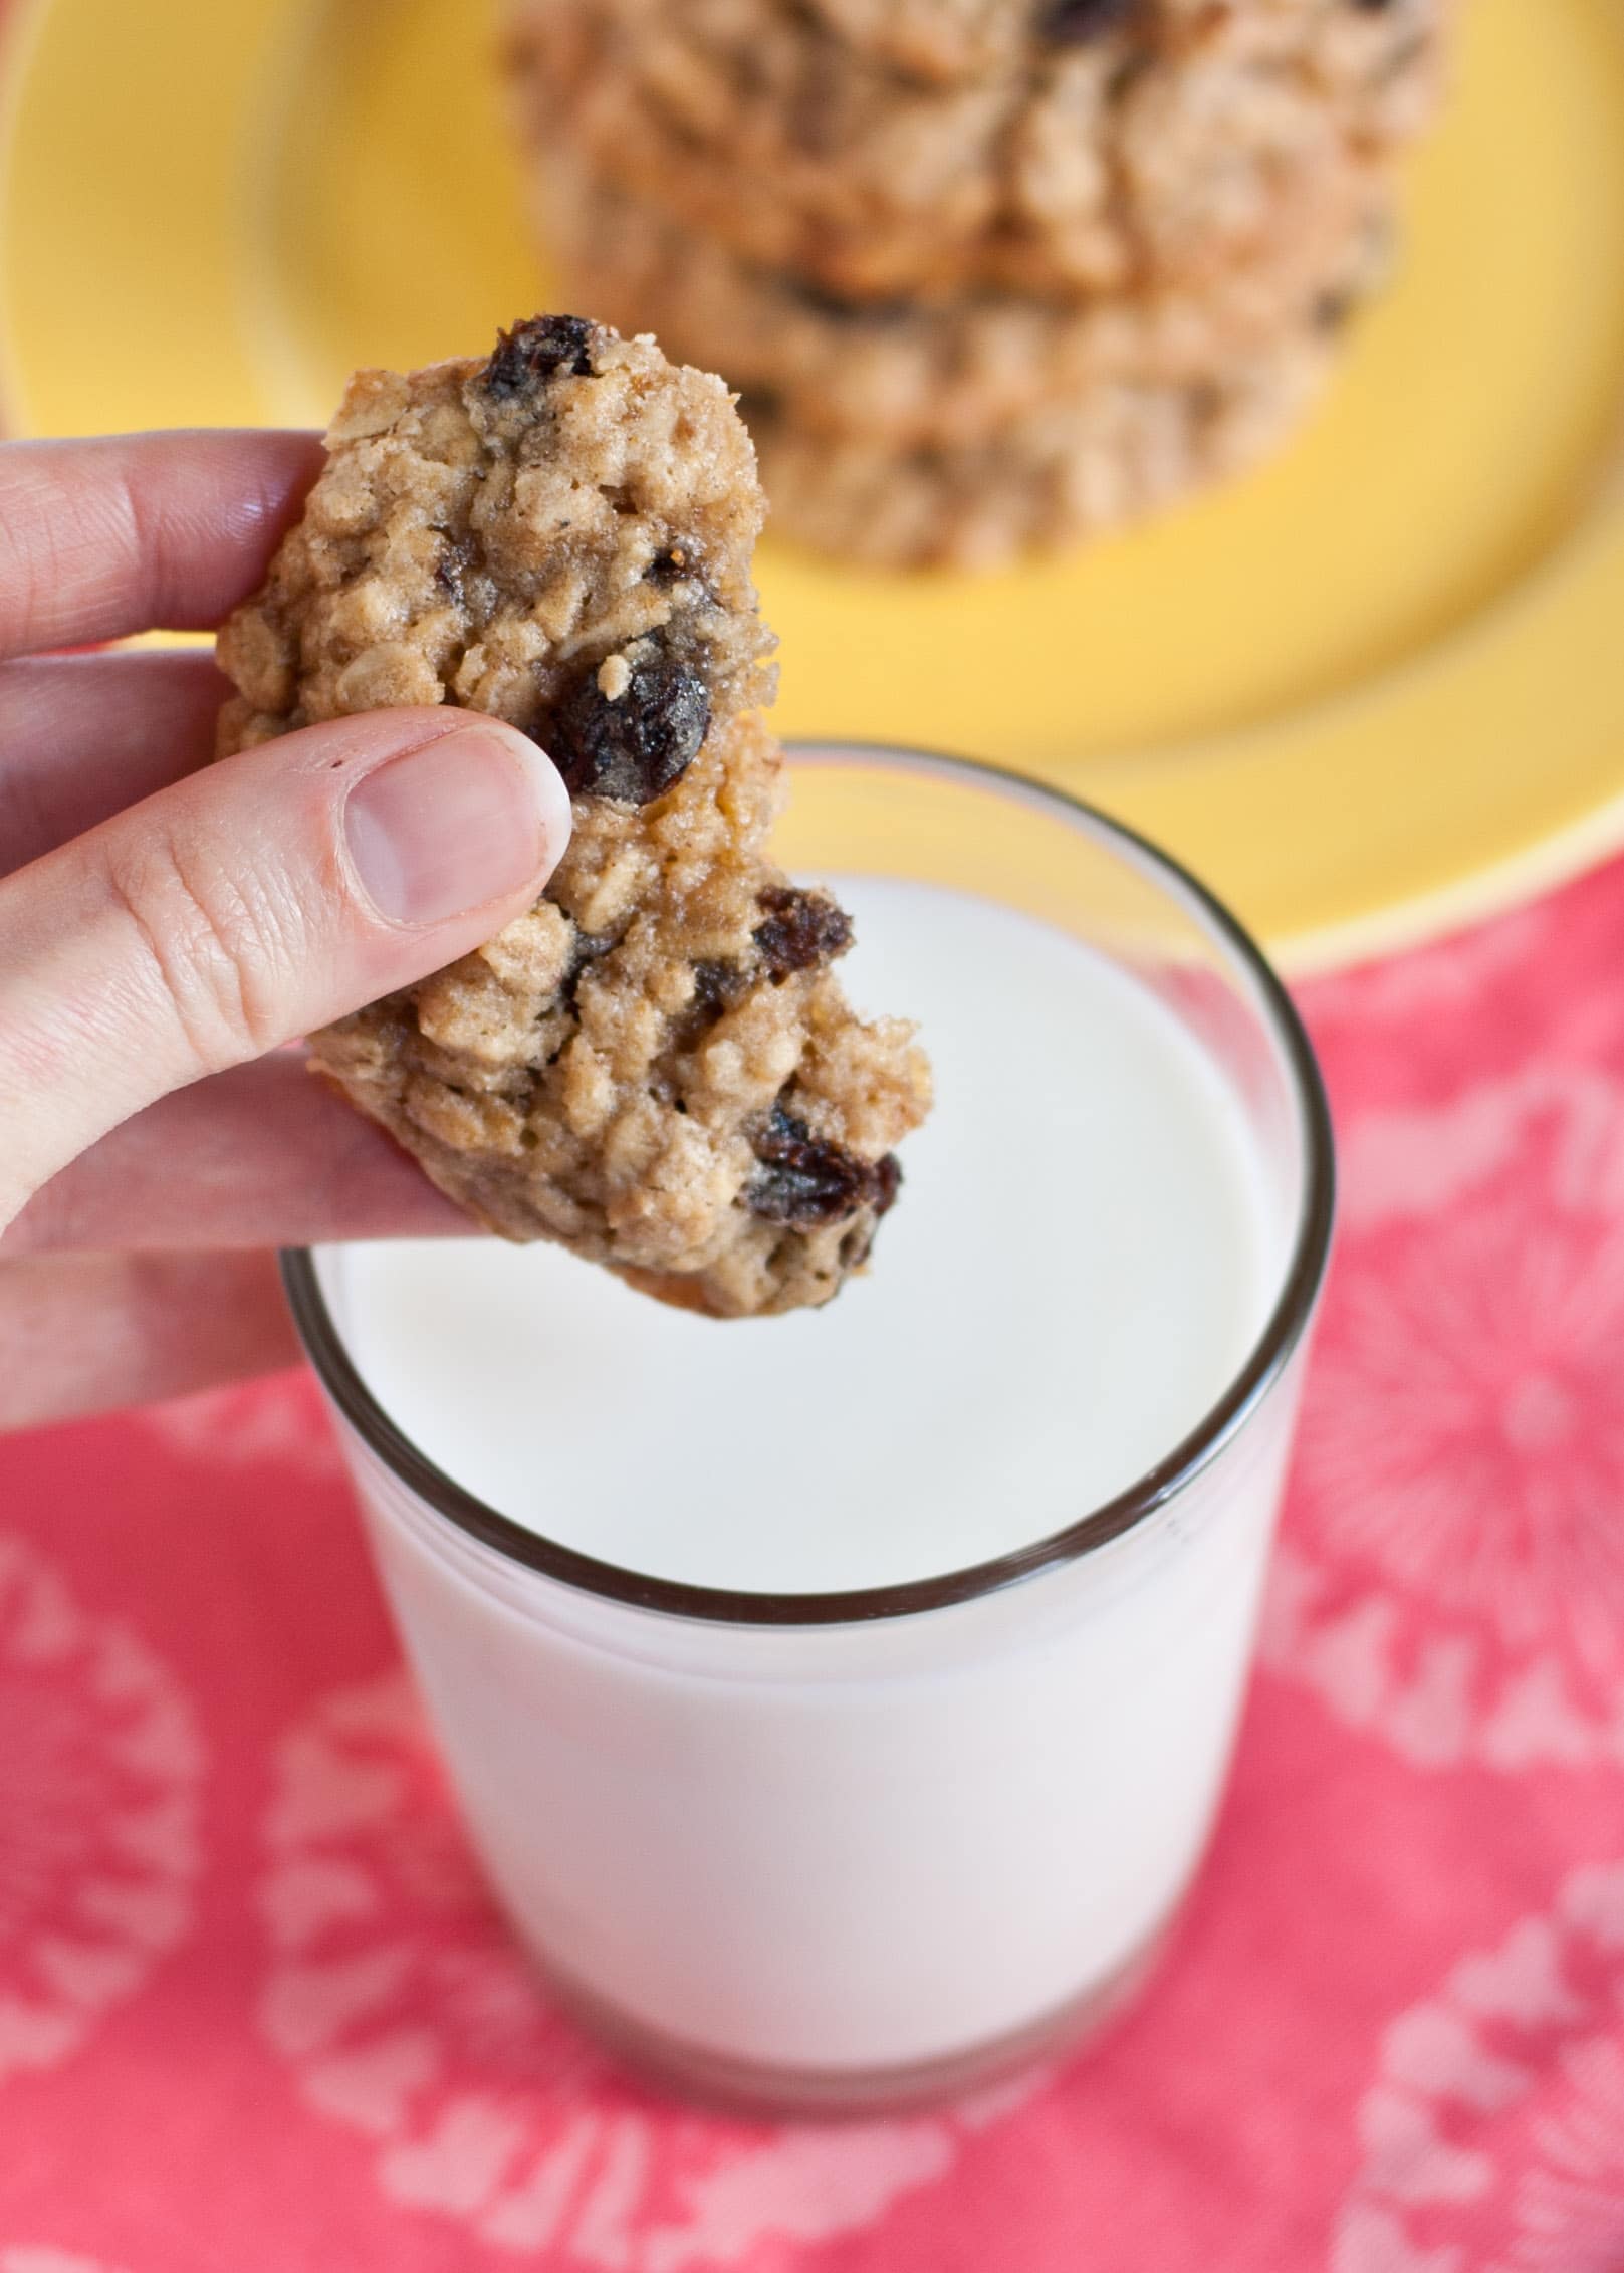
M1263 1662L1099 2050L831 2130L620 2080L284 1377L0 1446L0 2273L1617 2273L1624 868L1306 1007L1345 1216Z

